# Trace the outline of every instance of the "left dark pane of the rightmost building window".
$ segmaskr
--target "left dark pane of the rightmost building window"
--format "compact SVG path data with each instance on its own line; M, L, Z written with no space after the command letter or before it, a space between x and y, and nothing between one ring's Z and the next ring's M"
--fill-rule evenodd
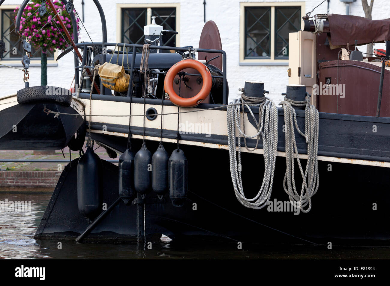
M245 58L270 58L271 7L245 7Z

